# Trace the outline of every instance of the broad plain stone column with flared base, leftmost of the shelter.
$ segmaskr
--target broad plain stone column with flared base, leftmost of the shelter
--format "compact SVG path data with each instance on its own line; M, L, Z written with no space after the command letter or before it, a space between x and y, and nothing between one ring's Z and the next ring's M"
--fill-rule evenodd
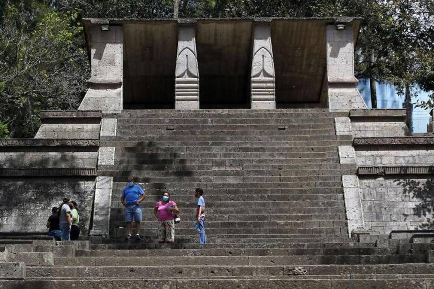
M95 24L90 29L89 39L91 77L78 109L120 112L123 107L123 27Z

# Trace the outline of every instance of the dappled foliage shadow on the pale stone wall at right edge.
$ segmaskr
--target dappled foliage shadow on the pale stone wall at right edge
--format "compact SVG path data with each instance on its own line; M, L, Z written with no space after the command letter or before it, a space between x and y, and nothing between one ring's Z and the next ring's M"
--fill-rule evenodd
M419 228L434 229L434 177L426 180L397 179L394 182L403 187L403 194L408 195L412 202L419 202L412 208L414 216L425 219L421 221Z

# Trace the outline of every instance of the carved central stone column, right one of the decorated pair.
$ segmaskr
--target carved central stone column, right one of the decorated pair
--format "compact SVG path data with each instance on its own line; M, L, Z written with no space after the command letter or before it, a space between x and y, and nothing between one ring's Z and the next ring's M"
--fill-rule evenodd
M251 108L275 109L276 90L270 24L255 24L252 57Z

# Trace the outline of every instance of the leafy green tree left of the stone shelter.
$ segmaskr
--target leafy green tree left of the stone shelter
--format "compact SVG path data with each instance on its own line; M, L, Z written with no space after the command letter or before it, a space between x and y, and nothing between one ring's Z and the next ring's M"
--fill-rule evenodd
M88 75L82 27L42 1L10 0L0 20L0 123L31 137L41 109L76 109Z

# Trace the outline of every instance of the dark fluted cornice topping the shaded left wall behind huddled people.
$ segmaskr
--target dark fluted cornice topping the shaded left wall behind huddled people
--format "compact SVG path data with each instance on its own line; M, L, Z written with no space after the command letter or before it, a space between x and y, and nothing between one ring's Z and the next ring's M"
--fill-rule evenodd
M1 177L96 175L96 168L0 168Z

